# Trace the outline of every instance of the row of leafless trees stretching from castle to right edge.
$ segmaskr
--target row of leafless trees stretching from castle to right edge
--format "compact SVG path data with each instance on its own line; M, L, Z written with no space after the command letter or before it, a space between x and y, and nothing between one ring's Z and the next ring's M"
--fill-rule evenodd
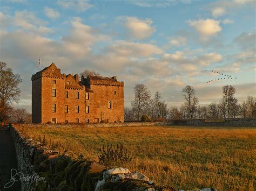
M196 90L192 86L186 86L181 90L184 103L180 107L168 107L159 91L156 91L151 98L151 91L144 84L136 84L133 89L134 99L131 101L131 107L124 108L124 118L125 121L165 121L253 117L256 98L247 96L244 102L238 103L235 91L234 86L223 86L223 95L219 103L201 105L196 96Z

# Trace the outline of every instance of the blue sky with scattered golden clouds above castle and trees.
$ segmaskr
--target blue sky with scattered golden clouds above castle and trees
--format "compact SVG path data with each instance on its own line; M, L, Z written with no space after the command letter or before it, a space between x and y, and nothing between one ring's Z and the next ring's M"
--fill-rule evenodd
M137 83L169 106L186 85L200 104L219 102L226 84L243 102L256 96L255 44L255 0L0 0L0 61L21 75L15 106L29 111L39 57L65 74L117 76L127 107Z

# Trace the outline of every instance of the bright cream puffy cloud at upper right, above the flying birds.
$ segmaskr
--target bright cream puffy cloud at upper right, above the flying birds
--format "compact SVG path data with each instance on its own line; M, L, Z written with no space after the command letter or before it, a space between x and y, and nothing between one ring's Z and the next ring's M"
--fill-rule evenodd
M200 20L188 20L190 26L198 31L202 36L215 36L222 29L218 20L213 19L200 19Z

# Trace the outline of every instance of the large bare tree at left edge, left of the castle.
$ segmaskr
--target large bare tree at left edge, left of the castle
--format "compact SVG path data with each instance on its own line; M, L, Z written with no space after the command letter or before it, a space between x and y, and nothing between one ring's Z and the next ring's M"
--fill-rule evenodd
M21 90L18 88L22 82L21 76L14 74L11 68L7 68L6 63L0 62L0 105L18 102Z

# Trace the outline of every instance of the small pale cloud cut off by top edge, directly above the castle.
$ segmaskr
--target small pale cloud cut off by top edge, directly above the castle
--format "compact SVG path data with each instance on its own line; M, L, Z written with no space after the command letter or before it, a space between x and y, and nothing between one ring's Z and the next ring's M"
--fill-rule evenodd
M89 3L89 0L69 0L69 1L58 0L57 4L64 9L73 9L78 12L84 12L87 9L90 9L93 7L93 5Z

